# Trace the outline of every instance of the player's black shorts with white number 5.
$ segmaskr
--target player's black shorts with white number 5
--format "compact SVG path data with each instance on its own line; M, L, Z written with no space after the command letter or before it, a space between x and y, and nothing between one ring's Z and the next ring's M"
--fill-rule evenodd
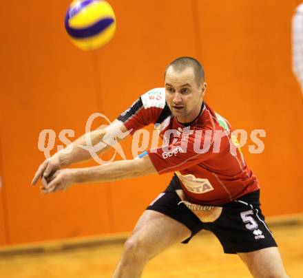
M163 213L184 224L191 237L202 229L211 231L219 239L224 253L246 253L262 248L277 246L260 209L260 191L244 195L238 200L224 204L220 217L214 222L201 222L185 204L179 204L176 189L181 189L176 175L163 193L147 209ZM191 239L182 243L188 243Z

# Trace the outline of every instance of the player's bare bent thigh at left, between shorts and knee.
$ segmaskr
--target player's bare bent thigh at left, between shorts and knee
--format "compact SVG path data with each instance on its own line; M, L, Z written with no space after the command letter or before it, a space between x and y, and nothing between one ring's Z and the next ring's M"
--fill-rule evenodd
M190 235L191 231L185 225L158 211L147 210L139 218L127 243L139 246L149 257L154 257Z

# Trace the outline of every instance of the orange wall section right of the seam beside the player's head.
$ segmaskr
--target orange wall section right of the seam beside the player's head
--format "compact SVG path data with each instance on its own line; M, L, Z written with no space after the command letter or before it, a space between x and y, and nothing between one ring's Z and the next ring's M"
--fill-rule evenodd
M264 153L252 155L244 147L262 186L265 213L302 212L302 95L291 72L294 5L233 0L203 9L202 3L199 38L209 103L234 128L267 132Z

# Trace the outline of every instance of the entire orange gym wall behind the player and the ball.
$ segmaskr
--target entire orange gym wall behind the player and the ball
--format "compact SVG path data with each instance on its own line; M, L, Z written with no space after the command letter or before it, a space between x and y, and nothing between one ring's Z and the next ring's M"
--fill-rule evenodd
M205 65L213 109L235 129L267 132L264 153L243 148L262 186L265 213L303 212L302 96L291 72L295 1L112 0L116 35L96 52L67 40L69 2L10 1L0 11L9 26L0 44L0 244L132 229L171 175L43 196L30 187L43 161L38 136L43 129L57 136L74 129L79 137L96 111L114 120L140 94L162 86L167 63L185 55ZM130 143L123 144L129 158Z

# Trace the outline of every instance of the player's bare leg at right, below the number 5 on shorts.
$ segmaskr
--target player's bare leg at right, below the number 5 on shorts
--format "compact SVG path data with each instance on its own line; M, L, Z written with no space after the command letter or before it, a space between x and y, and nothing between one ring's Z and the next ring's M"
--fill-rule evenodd
M287 277L277 247L238 253L253 277Z

